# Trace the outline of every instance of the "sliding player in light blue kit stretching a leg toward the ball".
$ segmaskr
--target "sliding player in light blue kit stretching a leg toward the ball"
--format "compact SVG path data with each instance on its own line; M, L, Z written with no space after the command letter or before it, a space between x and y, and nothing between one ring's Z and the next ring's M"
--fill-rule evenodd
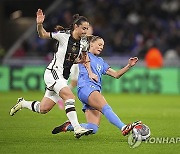
M107 101L101 94L101 78L102 75L109 75L114 78L120 78L131 67L133 67L138 58L130 58L128 64L118 70L113 70L101 57L98 55L102 52L104 40L99 36L91 36L90 49L88 52L88 62L90 62L93 73L98 76L98 81L89 78L87 69L83 64L79 64L79 78L78 78L78 97L83 104L83 111L85 112L87 123L81 126L93 129L95 134L99 128L101 115L103 114L110 123L115 125L125 136L133 129L133 127L141 121L136 121L130 124L124 124L120 118L113 112ZM69 121L53 129L52 133L73 131L73 127Z

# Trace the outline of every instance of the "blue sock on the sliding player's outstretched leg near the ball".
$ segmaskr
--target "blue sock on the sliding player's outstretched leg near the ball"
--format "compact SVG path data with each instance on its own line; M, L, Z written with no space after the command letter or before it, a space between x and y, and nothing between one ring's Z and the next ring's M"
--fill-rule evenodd
M119 117L113 112L111 107L106 104L102 108L102 113L109 120L110 123L121 129L125 124L119 119Z

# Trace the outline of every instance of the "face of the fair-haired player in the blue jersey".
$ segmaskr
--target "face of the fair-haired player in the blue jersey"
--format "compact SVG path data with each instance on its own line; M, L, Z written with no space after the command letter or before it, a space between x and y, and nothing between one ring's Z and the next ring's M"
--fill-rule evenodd
M104 40L103 39L97 39L94 42L90 43L90 51L95 54L99 55L104 48Z

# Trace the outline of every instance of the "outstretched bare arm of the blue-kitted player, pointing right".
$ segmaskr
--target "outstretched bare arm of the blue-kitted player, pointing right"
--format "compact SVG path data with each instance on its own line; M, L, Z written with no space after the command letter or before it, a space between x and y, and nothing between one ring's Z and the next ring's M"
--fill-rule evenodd
M109 68L106 72L107 75L112 76L116 79L119 79L124 73L126 73L132 66L134 66L138 61L137 57L133 57L129 59L129 63L123 67L122 69L116 71L112 68Z

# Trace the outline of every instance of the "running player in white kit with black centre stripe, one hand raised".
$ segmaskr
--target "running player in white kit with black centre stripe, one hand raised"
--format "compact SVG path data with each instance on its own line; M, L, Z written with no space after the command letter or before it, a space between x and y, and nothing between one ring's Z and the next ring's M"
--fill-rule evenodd
M75 137L79 138L82 135L92 133L92 130L80 126L74 105L75 96L68 87L67 81L73 63L79 59L78 57L85 57L83 55L86 55L84 51L87 51L89 44L83 38L86 36L89 22L83 16L74 15L73 18L73 23L69 29L59 26L57 32L47 32L43 28L45 15L41 9L38 9L36 22L39 37L43 39L56 39L58 41L58 50L44 73L46 92L41 102L26 101L24 98L19 98L17 104L11 108L10 115L13 116L22 108L28 108L37 113L47 113L61 97L65 102L66 115L74 127ZM97 76L92 73L90 65L85 62L86 58L88 59L88 57L83 59L89 77L97 80Z

